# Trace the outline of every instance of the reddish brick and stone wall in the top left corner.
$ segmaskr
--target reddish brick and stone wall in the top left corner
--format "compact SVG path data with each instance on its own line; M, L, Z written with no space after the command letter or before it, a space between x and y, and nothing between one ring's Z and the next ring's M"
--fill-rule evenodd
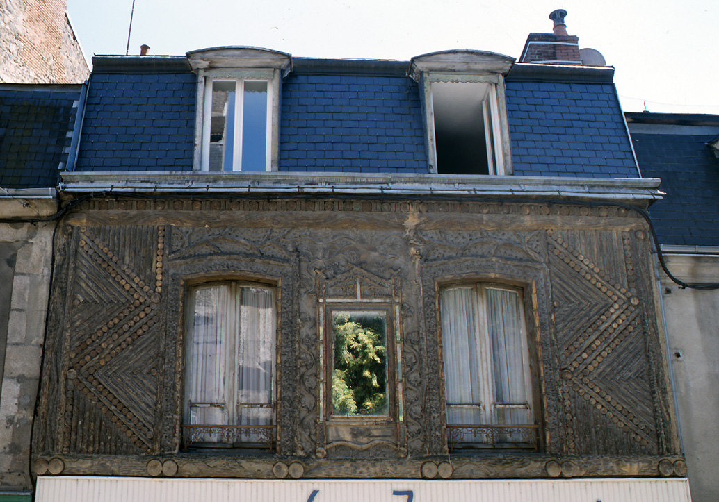
M81 83L88 76L65 0L0 0L0 82Z

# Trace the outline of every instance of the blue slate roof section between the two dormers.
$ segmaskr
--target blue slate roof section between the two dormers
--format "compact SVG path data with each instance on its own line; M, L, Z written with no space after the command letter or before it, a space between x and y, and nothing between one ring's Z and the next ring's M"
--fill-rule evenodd
M281 100L280 171L428 172L406 76L290 75Z

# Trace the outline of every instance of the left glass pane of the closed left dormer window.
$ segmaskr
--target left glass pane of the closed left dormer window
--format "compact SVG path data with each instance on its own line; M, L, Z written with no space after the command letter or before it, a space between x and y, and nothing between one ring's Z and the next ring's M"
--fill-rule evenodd
M234 80L212 81L210 171L232 171L235 85Z

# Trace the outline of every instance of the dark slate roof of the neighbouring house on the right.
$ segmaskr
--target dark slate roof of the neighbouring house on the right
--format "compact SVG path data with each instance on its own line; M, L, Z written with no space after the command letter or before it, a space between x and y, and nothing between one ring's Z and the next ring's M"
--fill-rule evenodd
M719 159L707 143L719 116L626 113L644 177L661 178L664 200L651 206L664 246L719 246Z

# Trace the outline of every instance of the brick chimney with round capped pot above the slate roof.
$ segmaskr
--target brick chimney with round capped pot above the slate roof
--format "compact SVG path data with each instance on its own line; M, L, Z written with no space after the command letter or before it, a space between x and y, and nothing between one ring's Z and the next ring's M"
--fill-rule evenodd
M546 65L581 65L579 37L567 34L564 17L567 11L557 9L549 14L554 22L553 33L530 33L519 62Z

